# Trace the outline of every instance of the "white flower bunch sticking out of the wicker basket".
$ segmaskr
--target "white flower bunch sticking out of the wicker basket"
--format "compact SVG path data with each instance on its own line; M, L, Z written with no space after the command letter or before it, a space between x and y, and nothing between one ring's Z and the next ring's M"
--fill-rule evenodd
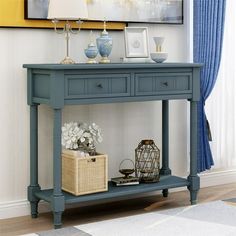
M102 142L101 129L95 123L70 122L62 126L62 146L66 149L92 152L95 144Z

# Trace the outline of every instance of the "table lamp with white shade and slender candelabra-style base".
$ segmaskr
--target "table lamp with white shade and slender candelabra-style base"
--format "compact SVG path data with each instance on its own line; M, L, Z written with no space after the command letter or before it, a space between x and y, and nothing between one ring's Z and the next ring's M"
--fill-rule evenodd
M52 19L55 32L65 34L66 40L66 57L61 61L61 64L74 64L75 62L69 57L69 39L70 34L77 34L80 31L82 21L80 19L88 18L88 9L86 0L49 0L48 19ZM57 29L57 23L60 20L65 20L63 30ZM70 21L76 21L79 25L77 31L72 30Z

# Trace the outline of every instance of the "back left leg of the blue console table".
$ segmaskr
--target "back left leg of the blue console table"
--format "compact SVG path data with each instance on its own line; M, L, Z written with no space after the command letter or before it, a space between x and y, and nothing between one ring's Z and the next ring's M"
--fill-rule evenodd
M28 200L31 206L31 217L38 217L39 199L35 192L40 190L38 184L38 104L30 106L30 185Z

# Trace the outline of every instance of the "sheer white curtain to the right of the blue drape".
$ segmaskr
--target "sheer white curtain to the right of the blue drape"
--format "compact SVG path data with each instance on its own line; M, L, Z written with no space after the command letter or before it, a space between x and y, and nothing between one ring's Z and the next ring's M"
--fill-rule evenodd
M214 171L236 168L236 1L227 0L224 42L218 79L207 99L206 113L211 124L210 142Z

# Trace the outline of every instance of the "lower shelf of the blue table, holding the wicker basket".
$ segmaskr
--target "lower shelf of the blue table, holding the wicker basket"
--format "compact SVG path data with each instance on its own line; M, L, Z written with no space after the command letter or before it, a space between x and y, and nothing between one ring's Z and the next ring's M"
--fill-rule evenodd
M160 181L158 183L116 187L113 186L111 182L109 182L107 192L88 194L78 197L64 191L63 194L65 196L65 203L72 204L72 203L82 203L82 202L84 203L84 202L99 201L112 198L120 198L125 196L136 195L138 193L141 194L162 189L184 187L188 185L189 181L187 179L173 175L168 175L168 176L161 176ZM53 189L40 190L39 192L36 192L35 195L41 200L51 202Z

